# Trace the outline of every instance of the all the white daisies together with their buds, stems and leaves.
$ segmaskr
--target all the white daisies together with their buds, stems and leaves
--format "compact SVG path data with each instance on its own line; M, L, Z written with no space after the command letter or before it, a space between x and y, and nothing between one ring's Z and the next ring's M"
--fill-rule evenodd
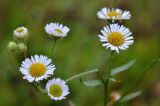
M126 101L138 96L141 92L135 92L128 95L121 95L116 91L113 91L112 93L108 92L109 81L118 82L114 76L122 71L127 70L135 63L135 60L132 60L121 67L115 69L112 69L111 67L113 52L119 53L122 50L126 50L134 43L134 38L130 29L122 25L123 20L129 20L131 18L130 12L123 11L118 8L102 8L97 12L97 16L100 19L106 19L110 22L109 25L103 27L103 29L100 31L101 34L98 35L100 42L103 43L102 46L104 46L106 49L109 49L110 51L109 62L107 61L109 63L109 69L107 69L107 72L105 72L105 76L101 75L98 69L94 69L76 74L70 78L67 78L66 80L62 80L60 77L56 78L56 76L54 76L54 73L56 72L56 66L54 65L52 59L43 54L35 54L28 57L28 47L26 43L27 38L29 37L28 29L25 27L19 27L14 30L14 41L9 42L7 47L9 51L15 53L24 53L24 58L23 61L21 61L21 66L19 69L23 75L23 79L27 80L29 83L32 83L33 86L42 94L47 94L55 101L65 99L66 96L70 93L68 87L69 81L91 73L96 73L98 79L90 80L88 82L82 81L82 79L80 79L80 82L84 85L92 87L103 85L104 106L111 106L117 101ZM51 50L52 54L56 40L66 37L70 31L70 28L59 23L49 23L44 27L44 30L48 36L53 39L53 47ZM44 85L41 84L42 80L47 80L45 87L41 86ZM109 94L111 97L110 99L108 99Z

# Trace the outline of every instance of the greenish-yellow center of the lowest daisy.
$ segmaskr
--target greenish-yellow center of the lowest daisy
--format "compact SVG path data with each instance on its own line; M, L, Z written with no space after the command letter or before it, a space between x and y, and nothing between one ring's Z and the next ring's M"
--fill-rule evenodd
M58 84L50 86L49 92L54 97L60 97L62 95L62 88Z

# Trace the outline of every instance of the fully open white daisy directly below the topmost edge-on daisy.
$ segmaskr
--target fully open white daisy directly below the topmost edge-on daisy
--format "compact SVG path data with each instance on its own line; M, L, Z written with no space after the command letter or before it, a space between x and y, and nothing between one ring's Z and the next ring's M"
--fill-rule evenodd
M127 49L134 42L133 36L131 36L132 32L123 25L110 24L104 27L101 33L102 35L98 36L100 41L104 42L103 46L106 49L115 50L117 53L119 50Z

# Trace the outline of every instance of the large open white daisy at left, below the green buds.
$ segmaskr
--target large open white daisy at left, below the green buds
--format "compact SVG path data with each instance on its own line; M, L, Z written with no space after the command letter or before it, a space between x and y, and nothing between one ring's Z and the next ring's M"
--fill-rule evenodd
M23 79L27 79L29 82L47 79L53 75L55 69L52 60L43 55L34 55L25 59L20 67L20 71L24 75Z

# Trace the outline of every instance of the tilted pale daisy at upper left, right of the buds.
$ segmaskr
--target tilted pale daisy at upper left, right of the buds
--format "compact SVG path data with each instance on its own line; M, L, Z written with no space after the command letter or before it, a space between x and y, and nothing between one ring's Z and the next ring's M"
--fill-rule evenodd
M55 37L66 37L70 29L59 23L50 23L45 26L45 30L49 35L53 35Z

